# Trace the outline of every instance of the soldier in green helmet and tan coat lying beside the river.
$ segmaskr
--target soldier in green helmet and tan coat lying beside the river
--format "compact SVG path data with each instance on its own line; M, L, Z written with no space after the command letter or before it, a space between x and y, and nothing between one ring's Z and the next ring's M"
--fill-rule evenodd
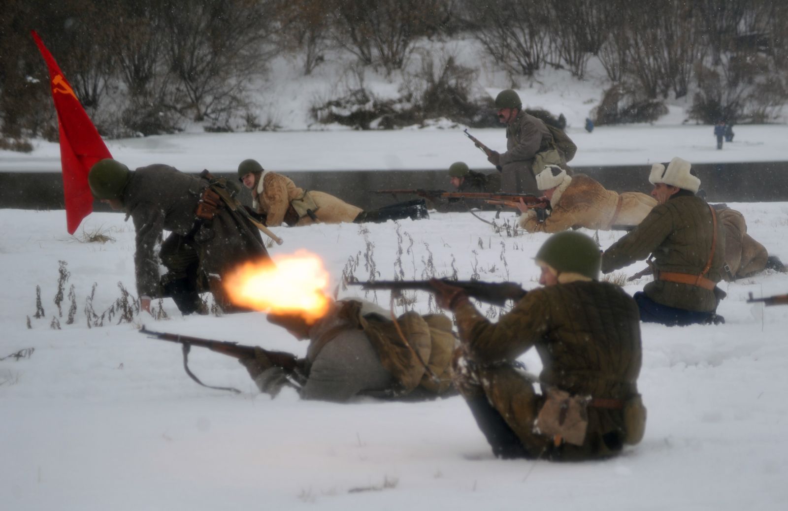
M373 211L348 204L322 191L304 191L286 176L265 170L255 160L244 160L238 165L238 180L251 190L252 207L263 217L268 227L279 227L282 222L290 227L315 223L385 222L411 218L428 218L423 199L393 204Z

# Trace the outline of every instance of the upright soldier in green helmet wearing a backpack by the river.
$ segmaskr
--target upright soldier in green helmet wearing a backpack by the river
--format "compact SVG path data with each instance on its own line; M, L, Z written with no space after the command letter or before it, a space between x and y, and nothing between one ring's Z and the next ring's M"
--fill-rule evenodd
M538 194L536 173L548 164L567 165L567 154L556 140L559 133L562 139L566 135L553 132L542 120L526 113L519 94L511 89L500 91L495 106L498 120L506 124L506 152L492 151L487 159L500 167L504 192Z

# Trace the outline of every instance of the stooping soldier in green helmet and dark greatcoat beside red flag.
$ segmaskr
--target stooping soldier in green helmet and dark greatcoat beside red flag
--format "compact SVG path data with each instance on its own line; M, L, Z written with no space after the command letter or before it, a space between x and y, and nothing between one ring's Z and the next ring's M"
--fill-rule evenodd
M201 312L199 292L210 290L217 304L232 312L236 307L225 296L221 276L245 261L269 260L257 228L229 207L240 205L227 183L204 175L190 176L169 165L131 171L107 158L87 176L95 198L134 222L143 310L151 312L152 298L169 296L181 313ZM170 234L162 242L164 230ZM160 264L168 269L163 276Z

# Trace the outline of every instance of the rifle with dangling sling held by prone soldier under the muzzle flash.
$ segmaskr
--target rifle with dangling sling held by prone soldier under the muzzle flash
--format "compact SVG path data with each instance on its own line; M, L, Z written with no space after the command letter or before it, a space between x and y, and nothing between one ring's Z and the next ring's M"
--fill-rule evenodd
M188 366L188 354L189 350L191 350L191 346L201 346L203 348L208 348L211 351L216 351L217 353L225 354L229 357L233 358L255 358L255 346L245 346L243 344L233 343L229 341L214 341L211 339L201 339L199 337L191 337L189 335L180 335L180 334L168 334L162 331L151 331L147 330L144 326L139 331L140 334L145 334L151 339L159 339L162 341L169 341L170 343L180 343L183 345L184 350L184 369L186 370L186 374L191 378L191 380L195 380L195 382L199 383L203 387L208 387L212 389L217 389L220 391L232 391L236 394L240 394L240 391L236 388L232 387L212 387L210 385L206 385L205 383L201 382L197 376L194 375L193 372L189 369ZM257 348L257 350L262 350L262 353L268 357L269 361L276 366L280 367L284 370L285 374L288 376L296 376L298 378L302 375L302 368L299 365L299 359L294 354L287 353L285 351L273 351L273 350L263 350L262 348Z

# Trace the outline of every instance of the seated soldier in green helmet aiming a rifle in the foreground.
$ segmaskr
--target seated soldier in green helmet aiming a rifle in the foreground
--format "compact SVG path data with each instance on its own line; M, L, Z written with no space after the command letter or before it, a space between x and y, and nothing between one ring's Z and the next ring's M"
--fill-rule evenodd
M497 457L590 460L640 442L637 304L620 287L597 280L600 259L588 236L552 235L536 256L543 287L496 323L461 288L430 281L459 328L455 387ZM532 346L543 366L538 377L517 361Z

